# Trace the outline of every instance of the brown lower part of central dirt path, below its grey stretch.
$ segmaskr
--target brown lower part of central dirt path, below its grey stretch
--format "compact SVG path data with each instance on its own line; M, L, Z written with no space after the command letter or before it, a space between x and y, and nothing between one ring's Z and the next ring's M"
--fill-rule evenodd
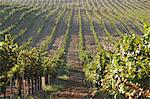
M58 92L59 98L83 98L89 97L89 88L84 83L82 64L79 61L78 35L71 36L66 61L69 65L68 81L62 91Z

